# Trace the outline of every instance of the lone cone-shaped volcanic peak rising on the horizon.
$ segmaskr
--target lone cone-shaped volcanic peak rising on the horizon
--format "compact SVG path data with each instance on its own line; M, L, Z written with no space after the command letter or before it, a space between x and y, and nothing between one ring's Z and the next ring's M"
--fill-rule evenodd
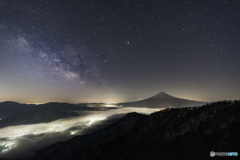
M164 92L159 92L155 96L150 98L136 101L136 102L127 102L119 103L119 106L122 107L146 107L146 108L179 108L185 106L201 106L207 102L199 102L187 99L181 99L177 97L170 96Z

